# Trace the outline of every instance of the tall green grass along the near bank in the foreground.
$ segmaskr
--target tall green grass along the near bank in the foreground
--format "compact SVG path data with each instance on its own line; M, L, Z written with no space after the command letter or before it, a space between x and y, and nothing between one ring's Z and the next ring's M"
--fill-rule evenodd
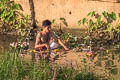
M0 80L104 80L95 74L71 67L50 66L45 60L39 63L23 61L18 50L5 51L0 56Z

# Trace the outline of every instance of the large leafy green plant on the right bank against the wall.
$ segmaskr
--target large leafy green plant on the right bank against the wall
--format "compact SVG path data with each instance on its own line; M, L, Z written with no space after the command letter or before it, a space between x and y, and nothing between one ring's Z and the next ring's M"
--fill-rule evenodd
M119 42L119 23L113 25L116 21L116 13L102 12L102 15L95 11L89 12L87 17L78 21L78 25L83 24L87 29L89 40L94 42L94 45L111 45ZM117 27L115 27L117 26ZM88 41L89 41L88 40ZM112 43L111 43L112 42Z

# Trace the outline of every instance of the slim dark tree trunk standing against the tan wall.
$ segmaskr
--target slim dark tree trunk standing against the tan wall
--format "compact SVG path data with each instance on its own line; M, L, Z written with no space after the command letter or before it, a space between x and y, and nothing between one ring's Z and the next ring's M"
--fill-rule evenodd
M32 27L35 29L37 27L36 20L35 20L35 10L34 10L34 2L33 0L29 0L30 11L31 11L31 20L32 20Z

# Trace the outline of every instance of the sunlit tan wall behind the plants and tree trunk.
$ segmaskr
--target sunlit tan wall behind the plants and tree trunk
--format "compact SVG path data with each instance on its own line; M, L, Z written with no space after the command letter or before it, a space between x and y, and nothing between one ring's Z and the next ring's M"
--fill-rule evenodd
M23 13L30 14L29 0L15 0L24 9ZM56 19L56 24L60 23L59 18L64 17L70 28L77 28L77 21L85 17L88 12L103 11L120 13L120 0L33 0L35 5L35 15L38 25L44 19Z

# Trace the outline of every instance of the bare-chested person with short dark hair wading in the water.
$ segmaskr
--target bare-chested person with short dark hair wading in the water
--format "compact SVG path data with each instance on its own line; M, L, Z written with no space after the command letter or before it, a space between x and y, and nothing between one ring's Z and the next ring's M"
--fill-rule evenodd
M44 20L42 22L42 31L38 32L36 36L35 48L42 50L48 50L50 52L51 47L49 44L52 44L53 41L58 42L65 50L69 50L67 46L53 33L51 32L51 22L49 20ZM49 53L48 53L49 54ZM40 53L43 56L43 53Z

